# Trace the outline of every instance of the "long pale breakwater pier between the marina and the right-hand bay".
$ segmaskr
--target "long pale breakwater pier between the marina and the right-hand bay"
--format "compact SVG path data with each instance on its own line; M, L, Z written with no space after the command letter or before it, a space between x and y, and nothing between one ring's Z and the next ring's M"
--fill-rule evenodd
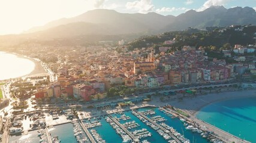
M159 108L161 108L161 107L159 107ZM161 109L166 111L167 113L170 113L170 114L174 113L174 114L176 114L176 116L178 116L177 114L179 114L179 113L176 113L176 111L171 110L170 108L169 109L171 111L165 110L164 108L161 108ZM195 118L194 116L191 116L191 115L189 115L189 117L182 116L182 118L184 118L186 120L190 120L191 122L195 122L198 125L205 126L208 131L215 133L216 138L219 138L222 141L225 141L225 142L249 143L248 141L245 141L243 139L237 138L236 136L231 135L230 133L225 132L224 130L216 128L215 126L212 126L209 123L203 122L203 121Z

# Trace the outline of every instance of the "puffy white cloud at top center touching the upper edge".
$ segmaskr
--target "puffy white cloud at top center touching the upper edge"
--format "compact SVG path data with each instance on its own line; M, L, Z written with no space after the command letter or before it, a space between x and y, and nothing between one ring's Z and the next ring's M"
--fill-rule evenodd
M127 2L125 7L128 10L138 11L138 13L149 13L153 11L155 6L152 4L151 0L140 0L134 2Z

